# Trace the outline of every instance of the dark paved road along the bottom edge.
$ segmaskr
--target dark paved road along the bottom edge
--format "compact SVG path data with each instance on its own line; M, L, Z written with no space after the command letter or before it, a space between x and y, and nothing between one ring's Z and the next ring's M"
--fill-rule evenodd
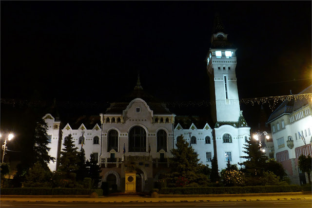
M312 200L272 200L236 202L17 202L1 201L1 208L145 208L145 207L192 207L192 208L312 208Z

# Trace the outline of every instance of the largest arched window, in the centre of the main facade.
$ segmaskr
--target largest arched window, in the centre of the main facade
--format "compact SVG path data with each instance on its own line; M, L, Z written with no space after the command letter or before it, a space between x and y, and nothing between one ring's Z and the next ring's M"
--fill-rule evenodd
M140 126L133 127L129 132L129 151L146 151L146 132Z

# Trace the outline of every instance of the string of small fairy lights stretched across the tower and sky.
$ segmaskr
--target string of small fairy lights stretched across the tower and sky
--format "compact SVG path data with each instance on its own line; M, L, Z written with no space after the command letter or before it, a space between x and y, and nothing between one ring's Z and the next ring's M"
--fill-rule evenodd
M0 99L1 105L10 105L13 108L23 107L41 107L49 108L53 106L53 102L49 101L33 101L33 100L18 100L18 99ZM189 107L208 107L215 104L231 104L237 103L244 105L265 105L268 104L269 108L273 111L276 105L280 102L287 101L301 101L312 100L312 93L298 94L298 95L279 95L269 97L254 97L243 99L230 99L230 100L216 100L216 101L176 101L176 102L164 102L168 108L189 108ZM227 103L226 103L227 102ZM64 108L108 108L111 102L85 102L85 101L58 101L58 107Z

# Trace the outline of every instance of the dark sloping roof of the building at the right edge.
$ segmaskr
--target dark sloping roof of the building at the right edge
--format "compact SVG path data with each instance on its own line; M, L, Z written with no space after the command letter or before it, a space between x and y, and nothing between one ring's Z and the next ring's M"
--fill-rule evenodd
M300 93L298 93L297 95L300 94L308 94L308 93L312 93L312 85L310 85L309 87L307 87L306 89L304 89L303 91L301 91ZM282 102L282 104L280 104L275 111L273 111L273 113L271 113L267 123L272 122L274 119L278 118L279 116L281 116L284 113L292 113L300 108L302 108L303 106L308 104L308 98L303 98L303 99L292 99L290 101L285 100L284 102Z

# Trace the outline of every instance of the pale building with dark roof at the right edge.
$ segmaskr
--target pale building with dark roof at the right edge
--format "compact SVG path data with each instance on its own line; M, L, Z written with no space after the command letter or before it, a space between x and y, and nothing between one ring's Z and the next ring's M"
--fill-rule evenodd
M312 85L299 94L312 93ZM298 157L311 155L312 100L285 100L269 117L274 158L280 162L293 184L308 181L308 176L298 169Z

